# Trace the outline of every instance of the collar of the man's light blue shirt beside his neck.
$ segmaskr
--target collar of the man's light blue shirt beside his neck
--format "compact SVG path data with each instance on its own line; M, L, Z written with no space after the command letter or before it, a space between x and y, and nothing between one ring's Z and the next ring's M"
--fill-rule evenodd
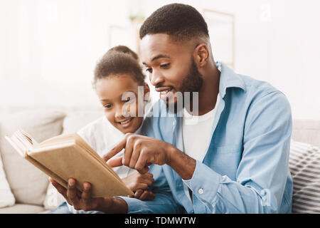
M242 78L233 72L225 63L215 62L215 65L220 71L220 83L219 83L219 93L220 97L224 98L227 88L242 88L245 90L245 83Z

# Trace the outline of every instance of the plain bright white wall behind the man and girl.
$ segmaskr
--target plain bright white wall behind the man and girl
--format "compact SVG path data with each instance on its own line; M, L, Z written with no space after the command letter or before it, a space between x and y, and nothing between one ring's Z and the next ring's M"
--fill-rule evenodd
M91 79L108 25L171 2L235 14L235 71L282 90L294 118L320 119L317 0L0 0L0 107L98 105Z

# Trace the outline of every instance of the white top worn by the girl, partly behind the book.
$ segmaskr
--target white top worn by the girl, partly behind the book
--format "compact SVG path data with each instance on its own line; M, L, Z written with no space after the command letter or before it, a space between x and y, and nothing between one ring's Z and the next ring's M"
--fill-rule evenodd
M140 128L136 131L136 134L139 134ZM95 152L97 152L100 157L105 155L108 151L110 151L117 143L119 143L124 138L124 133L119 131L117 128L107 120L105 116L98 118L97 120L89 123L84 128L78 131L78 135L87 142L90 147L92 147ZM120 157L123 155L124 150L119 152L114 157ZM132 174L135 170L127 167L127 166L120 166L114 167L114 172L117 172L120 178L127 177L128 175ZM89 171L89 170L88 170ZM68 204L68 202L67 202ZM99 212L85 212L83 210L76 210L73 208L72 205L68 204L70 212L75 214L79 213L99 213Z

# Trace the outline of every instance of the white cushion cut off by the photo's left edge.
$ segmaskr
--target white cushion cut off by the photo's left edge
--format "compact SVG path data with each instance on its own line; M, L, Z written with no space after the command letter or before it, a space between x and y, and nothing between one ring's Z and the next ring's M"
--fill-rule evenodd
M2 165L0 156L0 208L14 205L14 195L11 192L8 181L6 180L6 173Z

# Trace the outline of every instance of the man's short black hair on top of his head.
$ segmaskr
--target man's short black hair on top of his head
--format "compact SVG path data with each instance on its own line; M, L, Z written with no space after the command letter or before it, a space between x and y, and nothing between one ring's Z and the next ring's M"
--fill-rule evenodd
M203 16L185 4L169 4L154 11L142 24L140 38L156 33L166 33L176 41L198 36L209 37L208 25Z

